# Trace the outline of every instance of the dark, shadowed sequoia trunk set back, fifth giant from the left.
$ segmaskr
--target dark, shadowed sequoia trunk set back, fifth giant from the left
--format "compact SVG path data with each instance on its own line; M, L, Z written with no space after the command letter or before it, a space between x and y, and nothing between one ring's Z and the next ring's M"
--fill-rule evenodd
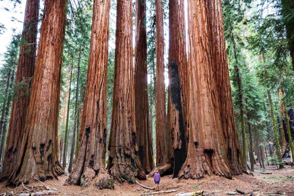
M136 1L135 113L139 158L146 174L154 168L147 89L146 0Z

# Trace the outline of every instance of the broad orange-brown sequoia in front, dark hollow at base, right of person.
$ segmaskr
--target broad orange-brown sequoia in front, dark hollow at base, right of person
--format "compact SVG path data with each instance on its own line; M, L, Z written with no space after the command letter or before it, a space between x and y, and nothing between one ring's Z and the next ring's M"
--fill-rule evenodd
M232 178L225 149L217 89L209 43L209 11L207 1L188 2L189 16L189 96L188 157L180 178L200 179L204 175L221 175ZM219 8L221 9L221 8ZM214 46L211 46L214 47ZM217 104L214 107L214 104Z

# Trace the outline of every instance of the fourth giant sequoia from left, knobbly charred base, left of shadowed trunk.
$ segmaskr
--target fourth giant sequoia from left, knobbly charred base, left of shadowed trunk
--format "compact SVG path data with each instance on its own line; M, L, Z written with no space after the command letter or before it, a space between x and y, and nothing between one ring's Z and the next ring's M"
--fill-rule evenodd
M132 1L117 1L113 108L107 169L115 180L146 179L136 143Z

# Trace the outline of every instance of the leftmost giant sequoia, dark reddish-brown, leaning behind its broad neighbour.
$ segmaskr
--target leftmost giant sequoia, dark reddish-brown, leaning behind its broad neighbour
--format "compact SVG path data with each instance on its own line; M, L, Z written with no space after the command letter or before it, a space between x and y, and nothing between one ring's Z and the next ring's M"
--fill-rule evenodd
M36 61L38 16L39 0L27 0L15 81L17 94L12 103L1 178L6 178L11 174L17 163L21 148L26 112L29 106L28 93L30 92L31 78Z

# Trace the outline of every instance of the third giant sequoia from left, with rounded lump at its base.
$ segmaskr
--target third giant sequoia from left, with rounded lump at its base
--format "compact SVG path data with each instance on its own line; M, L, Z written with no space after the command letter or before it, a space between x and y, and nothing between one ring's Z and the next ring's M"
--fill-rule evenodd
M105 168L107 134L107 63L110 0L94 0L87 87L81 121L82 139L73 171L66 183L113 189Z

